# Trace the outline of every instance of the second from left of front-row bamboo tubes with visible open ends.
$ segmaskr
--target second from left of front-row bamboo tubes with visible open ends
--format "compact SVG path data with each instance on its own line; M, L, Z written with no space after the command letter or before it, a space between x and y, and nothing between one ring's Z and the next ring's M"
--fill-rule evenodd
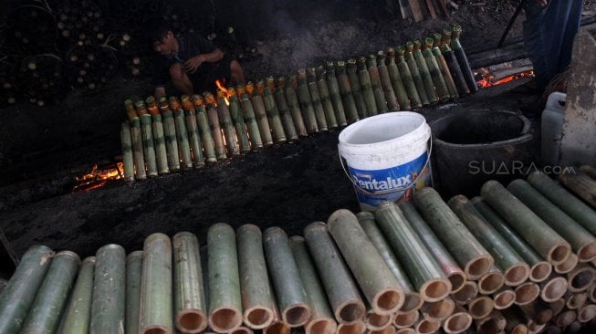
M218 333L242 325L242 301L234 229L213 224L207 233L209 327Z

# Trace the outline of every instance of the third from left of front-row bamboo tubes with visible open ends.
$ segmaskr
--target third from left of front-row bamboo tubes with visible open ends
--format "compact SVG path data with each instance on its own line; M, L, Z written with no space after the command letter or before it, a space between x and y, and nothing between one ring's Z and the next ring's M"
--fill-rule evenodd
M275 318L262 239L261 230L254 224L236 230L244 323L251 329L265 329Z

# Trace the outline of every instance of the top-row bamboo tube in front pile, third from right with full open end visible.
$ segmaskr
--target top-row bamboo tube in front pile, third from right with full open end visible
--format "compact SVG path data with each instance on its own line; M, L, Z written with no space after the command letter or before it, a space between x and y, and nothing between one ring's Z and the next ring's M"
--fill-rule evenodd
M486 222L484 216L476 210L472 202L468 201L464 195L455 195L449 200L448 204L465 224L465 227L493 256L497 267L503 270L507 286L517 287L528 279L528 264L507 244L505 238ZM479 287L480 292L485 293L483 292L484 285L480 284Z

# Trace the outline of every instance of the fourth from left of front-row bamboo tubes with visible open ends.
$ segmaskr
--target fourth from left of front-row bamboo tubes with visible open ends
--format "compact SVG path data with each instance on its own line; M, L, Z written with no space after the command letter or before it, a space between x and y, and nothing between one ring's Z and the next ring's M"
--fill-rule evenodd
M288 235L280 227L269 227L263 235L263 247L281 317L290 328L306 325L310 307L289 247Z

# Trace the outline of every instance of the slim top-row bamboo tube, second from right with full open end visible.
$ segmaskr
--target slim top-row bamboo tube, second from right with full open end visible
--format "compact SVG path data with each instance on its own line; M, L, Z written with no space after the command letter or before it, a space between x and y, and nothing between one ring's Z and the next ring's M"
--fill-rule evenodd
M549 277L552 266L542 259L515 231L513 231L500 216L486 204L480 197L472 199L476 210L485 218L507 240L507 244L521 256L530 266L529 279L533 282L541 282Z

